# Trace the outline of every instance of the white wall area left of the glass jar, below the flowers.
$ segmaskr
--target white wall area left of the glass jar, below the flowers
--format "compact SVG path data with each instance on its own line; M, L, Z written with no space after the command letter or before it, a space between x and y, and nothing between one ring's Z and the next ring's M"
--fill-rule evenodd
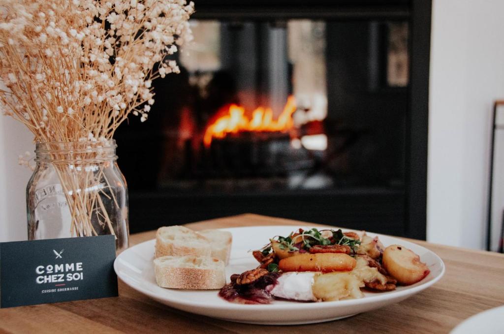
M0 242L27 239L25 190L32 172L18 165L18 156L35 150L32 140L23 124L0 113Z

